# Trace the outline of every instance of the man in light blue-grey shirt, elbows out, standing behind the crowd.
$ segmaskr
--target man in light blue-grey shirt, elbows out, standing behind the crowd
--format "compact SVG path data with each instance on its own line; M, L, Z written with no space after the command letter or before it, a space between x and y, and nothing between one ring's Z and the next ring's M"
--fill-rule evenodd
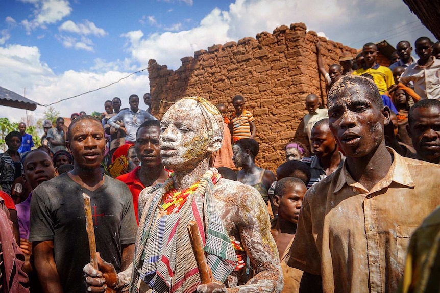
M126 143L134 145L136 141L136 131L140 124L146 120L157 120L153 115L145 110L139 109L139 97L131 95L129 98L130 109L121 110L107 122L111 127L122 129L126 134ZM116 121L122 120L124 126L119 126Z

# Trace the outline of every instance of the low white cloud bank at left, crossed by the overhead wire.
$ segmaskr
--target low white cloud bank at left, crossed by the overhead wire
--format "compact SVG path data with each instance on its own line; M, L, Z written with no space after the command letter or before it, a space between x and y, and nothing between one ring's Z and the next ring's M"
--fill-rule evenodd
M97 65L98 61L95 63L96 67L101 66L103 69L105 61L101 60L100 65ZM0 47L0 68L10 69L0 70L2 86L21 95L24 88L26 88L26 97L41 104L49 104L106 86L138 70L138 68L133 71L119 70L119 68L125 66L124 64L128 65L129 61L114 62L114 68L109 67L105 72L68 70L56 75L47 64L40 61L40 52L37 47L21 45ZM87 113L102 112L104 111L104 101L107 99L118 96L121 98L123 106L128 106L130 94L142 95L149 92L149 90L148 73L144 71L108 88L55 104L54 107L61 112L63 117L70 117L71 113L80 111L86 111ZM44 107L38 106L35 112L28 113L39 119L44 111ZM25 116L24 110L0 107L0 117L7 117L14 122L18 122L20 117Z

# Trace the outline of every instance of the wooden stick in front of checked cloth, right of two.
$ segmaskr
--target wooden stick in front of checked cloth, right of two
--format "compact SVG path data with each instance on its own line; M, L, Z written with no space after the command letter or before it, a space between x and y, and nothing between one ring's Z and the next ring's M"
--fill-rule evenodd
M208 263L206 262L205 252L203 251L202 237L200 236L199 227L195 221L189 221L188 225L189 239L191 240L192 251L194 252L197 268L199 269L200 280L202 284L211 283Z

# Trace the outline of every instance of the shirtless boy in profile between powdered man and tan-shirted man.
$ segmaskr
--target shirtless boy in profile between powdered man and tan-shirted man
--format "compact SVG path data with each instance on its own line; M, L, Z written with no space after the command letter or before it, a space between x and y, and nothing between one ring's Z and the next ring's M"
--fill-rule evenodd
M288 267L283 261L294 241L298 218L306 185L298 178L286 177L277 182L274 204L278 207L278 217L273 219L271 234L277 244L283 270L282 292L298 292L302 271Z

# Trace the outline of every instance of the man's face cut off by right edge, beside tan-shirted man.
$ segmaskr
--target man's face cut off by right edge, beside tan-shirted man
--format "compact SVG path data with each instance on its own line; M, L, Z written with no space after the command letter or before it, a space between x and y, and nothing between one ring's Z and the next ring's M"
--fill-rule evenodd
M415 108L408 135L417 153L429 162L440 159L440 109ZM438 162L436 162L438 163Z

